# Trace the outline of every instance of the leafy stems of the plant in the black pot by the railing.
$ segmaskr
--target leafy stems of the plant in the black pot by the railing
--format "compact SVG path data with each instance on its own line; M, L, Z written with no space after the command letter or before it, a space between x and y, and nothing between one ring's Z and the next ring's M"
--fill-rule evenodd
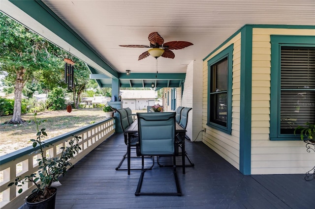
M32 182L36 185L36 189L32 192L40 192L43 195L43 200L46 199L45 192L49 186L53 182L58 182L58 177L63 175L67 172L67 168L72 167L72 164L69 162L70 159L74 158L74 155L81 150L78 142L81 139L79 136L73 136L73 138L69 141L69 146L61 147L62 154L60 157L48 158L46 157L46 152L44 150L45 147L49 147L50 144L45 143L43 140L47 136L45 129L39 130L39 125L41 121L36 120L36 113L34 113L34 122L36 124L37 133L36 139L31 139L32 146L35 148L39 146L39 155L40 158L37 159L38 161L38 169L42 169L38 172L38 174L31 174L30 176L25 177L17 177L15 182L11 182L8 186L18 186L21 187L18 192L22 193L23 191L23 184ZM40 182L38 182L40 180Z

